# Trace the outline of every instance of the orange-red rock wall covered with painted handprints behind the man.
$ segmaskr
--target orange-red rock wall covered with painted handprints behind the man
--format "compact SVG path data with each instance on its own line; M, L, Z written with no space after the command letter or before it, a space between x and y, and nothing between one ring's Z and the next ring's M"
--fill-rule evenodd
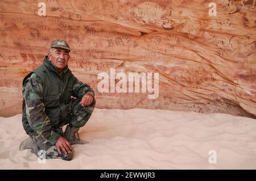
M209 16L209 3L217 16ZM97 108L150 108L256 116L255 0L1 1L0 116L21 112L22 79L54 39ZM99 73L159 73L159 96L99 92ZM115 80L117 82L117 80Z

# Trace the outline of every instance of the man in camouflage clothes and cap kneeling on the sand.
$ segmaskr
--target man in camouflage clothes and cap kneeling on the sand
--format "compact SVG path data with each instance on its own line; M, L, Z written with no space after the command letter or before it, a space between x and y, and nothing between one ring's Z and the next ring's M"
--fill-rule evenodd
M71 145L85 144L78 131L92 115L96 100L90 86L69 70L70 50L65 41L52 41L43 65L23 79L22 124L30 137L20 150L31 149L36 155L43 150L46 158L71 160Z

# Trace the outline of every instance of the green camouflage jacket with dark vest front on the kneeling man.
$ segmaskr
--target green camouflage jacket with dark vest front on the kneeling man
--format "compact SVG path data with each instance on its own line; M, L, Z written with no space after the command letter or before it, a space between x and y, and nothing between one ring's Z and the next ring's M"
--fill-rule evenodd
M81 99L84 94L92 94L94 97L90 86L78 81L68 66L60 76L47 56L43 65L24 78L22 93L23 128L28 135L36 132L53 145L62 133L59 125L63 120L59 117L67 118L70 96Z

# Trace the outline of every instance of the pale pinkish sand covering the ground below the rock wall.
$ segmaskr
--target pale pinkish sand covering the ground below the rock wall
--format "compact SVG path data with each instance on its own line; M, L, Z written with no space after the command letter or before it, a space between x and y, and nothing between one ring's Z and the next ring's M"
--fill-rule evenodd
M95 109L72 161L39 163L21 115L0 117L0 169L256 169L256 120L221 113ZM209 163L216 150L217 163Z

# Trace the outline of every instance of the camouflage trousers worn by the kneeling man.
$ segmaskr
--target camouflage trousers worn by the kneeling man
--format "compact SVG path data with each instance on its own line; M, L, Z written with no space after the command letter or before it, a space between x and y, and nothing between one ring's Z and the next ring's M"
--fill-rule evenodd
M72 127L83 127L92 115L92 112L96 104L96 100L94 99L92 104L85 107L82 107L79 104L80 100L81 99L71 99L71 101L69 102L70 110L68 119L62 121L59 125L62 136L63 131L61 127L63 127L63 125L69 124ZM33 146L33 152L40 158L60 158L64 160L72 159L73 150L69 154L65 154L63 152L59 154L57 147L55 145L52 145L50 142L47 142L37 133L34 132L30 136L32 137L33 141L36 142L36 146Z

